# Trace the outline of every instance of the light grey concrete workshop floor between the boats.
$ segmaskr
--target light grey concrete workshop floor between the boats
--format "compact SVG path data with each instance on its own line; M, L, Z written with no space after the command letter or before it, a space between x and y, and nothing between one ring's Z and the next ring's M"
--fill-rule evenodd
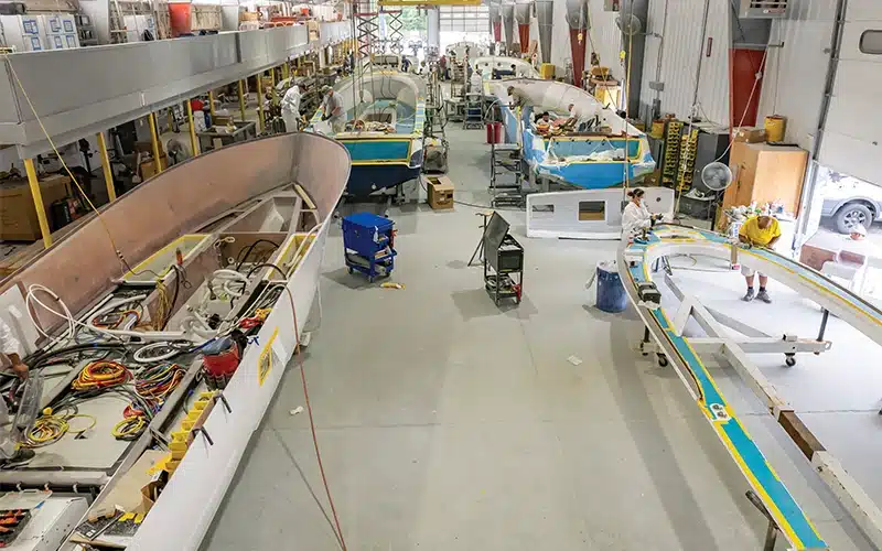
M456 198L486 205L484 132L450 129L449 138ZM524 302L499 309L483 290L481 269L466 266L481 236L476 212L461 204L445 213L426 205L390 210L399 230L391 279L404 290L349 276L338 228L327 241L324 315L305 369L348 549L761 549L765 522L744 497L744 478L674 371L635 352L636 315L592 305L584 282L617 244L527 239L523 213L504 213L528 268ZM735 274L678 277L704 285L717 306L735 307ZM798 309L809 305L776 296L776 311L806 317ZM837 358L853 358L858 352L849 348ZM583 363L572 365L571 355ZM828 356L800 358L792 370L781 359L764 369L779 376L785 396L802 397L800 411L819 412L822 439L841 441L850 414L865 431L878 430L868 411L882 385L878 393L869 385L846 390L848 370ZM731 369L716 372L831 548L869 549ZM299 406L303 391L292 367L205 550L337 548L316 506L326 498L309 420L290 414ZM848 468L872 466L854 455L842 457Z

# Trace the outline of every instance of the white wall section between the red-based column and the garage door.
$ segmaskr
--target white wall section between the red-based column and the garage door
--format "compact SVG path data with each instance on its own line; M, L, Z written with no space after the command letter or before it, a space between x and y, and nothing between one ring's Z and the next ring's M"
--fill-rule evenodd
M875 0L872 0L875 1ZM786 140L811 149L827 77L836 0L798 0L787 19L772 23L772 48L766 60L759 120L787 117Z

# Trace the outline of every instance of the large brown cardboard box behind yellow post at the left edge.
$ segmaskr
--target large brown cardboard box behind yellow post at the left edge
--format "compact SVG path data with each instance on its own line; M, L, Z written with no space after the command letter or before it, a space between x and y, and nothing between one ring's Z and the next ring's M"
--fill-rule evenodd
M40 181L40 194L49 216L50 205L68 197L71 179L52 174ZM0 239L34 241L43 237L36 219L31 186L24 179L0 184Z

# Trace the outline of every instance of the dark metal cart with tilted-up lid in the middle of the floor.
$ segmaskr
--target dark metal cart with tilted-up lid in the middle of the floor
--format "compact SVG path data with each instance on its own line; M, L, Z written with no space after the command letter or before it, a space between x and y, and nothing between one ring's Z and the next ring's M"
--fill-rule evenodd
M499 305L504 299L520 304L524 293L524 247L508 234L508 223L493 213L484 229L484 289Z

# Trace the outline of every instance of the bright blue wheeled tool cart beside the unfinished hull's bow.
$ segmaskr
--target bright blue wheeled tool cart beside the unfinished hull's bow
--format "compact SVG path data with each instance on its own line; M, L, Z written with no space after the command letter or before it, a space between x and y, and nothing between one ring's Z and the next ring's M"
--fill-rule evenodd
M343 248L349 273L389 276L395 268L395 223L370 213L356 213L343 218Z

